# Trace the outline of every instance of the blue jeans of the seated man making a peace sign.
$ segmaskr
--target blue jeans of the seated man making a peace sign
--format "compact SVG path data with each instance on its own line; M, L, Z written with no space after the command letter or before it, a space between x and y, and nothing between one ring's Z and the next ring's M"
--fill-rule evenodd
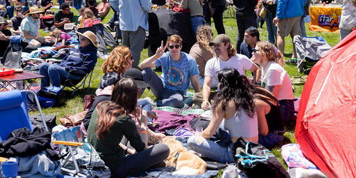
M157 106L179 107L183 103L184 91L167 89L160 77L151 68L142 71L143 80L151 88L152 94L157 97Z

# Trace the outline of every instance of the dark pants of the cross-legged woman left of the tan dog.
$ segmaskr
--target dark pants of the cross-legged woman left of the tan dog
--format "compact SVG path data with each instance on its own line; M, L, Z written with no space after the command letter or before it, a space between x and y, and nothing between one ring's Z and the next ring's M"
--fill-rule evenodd
M125 156L117 170L110 170L112 177L126 177L135 175L143 170L161 163L170 154L170 149L165 144L155 144L149 149L144 149L137 154Z

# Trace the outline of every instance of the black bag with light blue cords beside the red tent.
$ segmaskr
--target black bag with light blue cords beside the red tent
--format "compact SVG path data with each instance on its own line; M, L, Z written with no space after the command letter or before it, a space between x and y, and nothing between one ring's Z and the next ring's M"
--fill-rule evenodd
M261 144L249 142L240 137L232 146L237 167L253 177L289 178L287 170L271 151Z

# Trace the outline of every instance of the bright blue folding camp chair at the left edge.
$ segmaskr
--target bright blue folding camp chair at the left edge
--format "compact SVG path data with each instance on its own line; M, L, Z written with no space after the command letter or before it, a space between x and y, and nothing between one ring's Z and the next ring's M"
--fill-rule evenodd
M40 103L34 91L19 91L17 89L2 91L0 92L0 142L7 140L8 135L17 128L27 127L31 131L34 130L29 119L27 95L34 97L34 101L36 101L40 117L43 121L43 126L48 131Z

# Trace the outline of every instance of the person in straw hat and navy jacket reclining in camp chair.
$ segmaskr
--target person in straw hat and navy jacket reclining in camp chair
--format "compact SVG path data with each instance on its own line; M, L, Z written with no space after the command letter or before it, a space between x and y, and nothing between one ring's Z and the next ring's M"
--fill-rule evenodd
M61 80L80 80L82 76L69 74L69 71L80 71L90 73L93 71L98 59L96 51L98 42L96 36L91 31L85 31L84 34L77 32L80 36L79 49L71 49L66 57L62 59L61 64L49 64L43 62L40 65L40 75L45 77L40 80L41 89L50 86L61 87Z

